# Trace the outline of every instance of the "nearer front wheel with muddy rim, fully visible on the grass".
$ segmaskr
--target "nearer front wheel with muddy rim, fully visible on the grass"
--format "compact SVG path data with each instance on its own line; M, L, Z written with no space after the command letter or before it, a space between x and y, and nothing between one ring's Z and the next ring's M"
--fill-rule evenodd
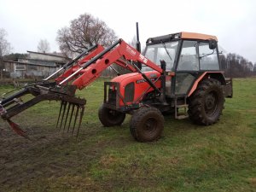
M139 142L153 142L158 140L163 129L164 116L157 108L140 108L131 117L131 135Z

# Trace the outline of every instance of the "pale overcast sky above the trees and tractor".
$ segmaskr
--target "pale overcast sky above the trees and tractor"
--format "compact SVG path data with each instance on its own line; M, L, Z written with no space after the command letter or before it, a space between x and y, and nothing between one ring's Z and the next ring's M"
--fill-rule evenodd
M0 0L0 28L8 32L12 52L37 51L40 39L58 51L58 29L84 13L105 21L126 42L135 36L138 21L143 46L149 37L201 32L216 35L228 52L256 62L254 0Z

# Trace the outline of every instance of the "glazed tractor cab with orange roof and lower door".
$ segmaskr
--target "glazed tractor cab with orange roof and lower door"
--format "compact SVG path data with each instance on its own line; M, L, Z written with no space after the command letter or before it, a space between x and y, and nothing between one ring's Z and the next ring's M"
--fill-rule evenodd
M166 96L188 96L202 74L220 73L217 41L215 36L193 32L148 38L144 55L158 66L166 61ZM143 72L150 70L143 66Z

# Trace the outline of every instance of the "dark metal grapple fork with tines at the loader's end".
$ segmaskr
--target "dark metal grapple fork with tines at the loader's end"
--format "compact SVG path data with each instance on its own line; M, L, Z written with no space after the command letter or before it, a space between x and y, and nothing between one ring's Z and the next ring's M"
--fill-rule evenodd
M60 101L61 108L56 127L60 131L71 131L72 135L76 131L76 136L79 134L80 125L84 115L85 99L75 96L76 87L74 85L60 86L54 83L37 83L26 86L12 96L3 99L0 102L0 114L2 119L7 120L10 127L20 136L27 137L25 131L20 129L20 126L15 124L11 118L18 113L23 112L27 108L31 108L38 102ZM32 97L26 102L23 102L21 96L30 95ZM70 113L71 111L71 113ZM68 119L68 124L67 124ZM79 120L78 120L79 119ZM77 122L79 122L78 125Z

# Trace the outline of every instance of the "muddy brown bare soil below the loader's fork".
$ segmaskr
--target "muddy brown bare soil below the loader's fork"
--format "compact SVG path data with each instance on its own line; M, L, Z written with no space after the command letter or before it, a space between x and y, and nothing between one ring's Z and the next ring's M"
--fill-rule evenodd
M16 135L2 123L0 191L20 190L30 183L36 185L85 172L89 162L102 150L100 145L84 147L83 139L61 134L54 129L44 129L44 126L27 127L30 141Z

